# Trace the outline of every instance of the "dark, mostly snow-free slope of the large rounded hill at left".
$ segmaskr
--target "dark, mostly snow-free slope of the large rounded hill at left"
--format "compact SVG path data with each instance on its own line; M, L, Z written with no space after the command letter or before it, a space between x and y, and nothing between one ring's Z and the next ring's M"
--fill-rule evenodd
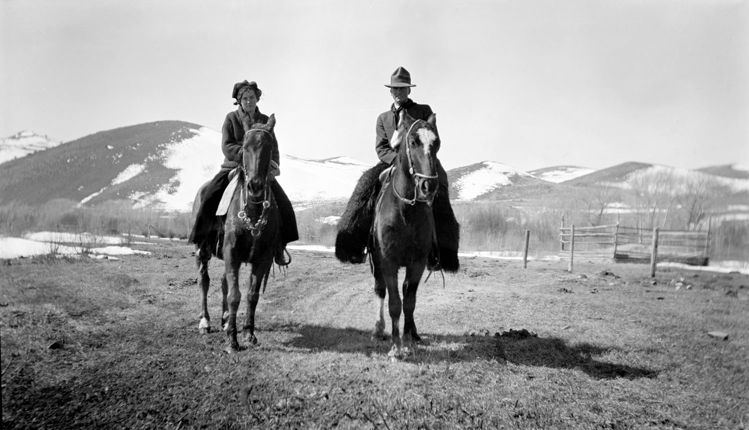
M164 163L169 148L199 136L200 129L183 121L121 127L4 163L0 204L33 206L56 198L95 204L128 199L134 190L157 193L175 176Z

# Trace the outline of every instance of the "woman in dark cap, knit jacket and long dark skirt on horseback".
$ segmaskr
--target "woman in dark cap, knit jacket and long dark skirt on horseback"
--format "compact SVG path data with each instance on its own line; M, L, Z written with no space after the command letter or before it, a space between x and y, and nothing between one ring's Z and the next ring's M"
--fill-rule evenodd
M195 225L192 226L189 241L199 244L201 240L210 232L210 228L216 221L216 209L229 183L229 172L240 165L242 160L242 142L244 139L243 119L248 119L249 123L267 124L268 116L264 115L258 109L258 100L260 100L263 91L258 88L255 82L237 82L231 91L231 97L236 101L237 110L226 114L223 127L221 128L221 151L224 153L224 163L221 165L219 173L210 181L205 195L198 209L198 216L195 218ZM276 135L273 133L273 154L271 155L270 172L276 176L279 174L280 153ZM281 216L281 239L282 252L276 254L276 264L287 265L283 249L289 242L299 239L297 231L297 217L294 215L294 208L284 193L281 185L277 180L270 182L270 190L276 197L276 204Z

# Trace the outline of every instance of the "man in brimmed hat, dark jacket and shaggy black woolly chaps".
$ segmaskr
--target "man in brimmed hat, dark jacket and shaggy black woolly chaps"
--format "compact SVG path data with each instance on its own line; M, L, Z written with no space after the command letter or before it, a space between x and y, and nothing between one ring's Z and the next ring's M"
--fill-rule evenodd
M405 110L411 118L423 121L428 120L433 113L429 105L415 103L408 97L411 88L416 85L411 84L411 75L403 67L395 69L390 76L390 84L385 86L390 88L393 103L388 111L377 117L375 151L377 157L380 158L380 163L364 172L339 220L336 257L344 262L361 263L364 261L364 248L368 244L374 219L375 199L380 192L379 176L383 170L389 168L395 160L395 155L398 154L398 148L393 148L390 142L397 141L397 135L395 139L393 135L398 129L401 111ZM439 160L437 160L437 180L439 189L432 203L432 212L439 248L431 253L429 265L434 270L442 268L455 272L460 267L458 262L460 225L450 206L447 173Z

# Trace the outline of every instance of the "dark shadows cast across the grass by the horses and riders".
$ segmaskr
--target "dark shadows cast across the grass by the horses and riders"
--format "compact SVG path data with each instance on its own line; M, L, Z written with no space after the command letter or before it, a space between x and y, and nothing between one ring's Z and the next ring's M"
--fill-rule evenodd
M525 332L525 330L523 330ZM316 351L365 354L386 357L387 341L370 340L371 332L353 327L336 328L300 324L295 336L284 342L286 346ZM518 332L519 333L519 332ZM597 360L597 357L619 348L601 347L589 343L568 344L557 337L538 337L533 333L496 333L494 336L455 336L422 334L425 345L417 345L411 363L438 364L479 360L515 363L523 366L543 366L556 369L580 369L592 378L655 378L658 371L625 364Z

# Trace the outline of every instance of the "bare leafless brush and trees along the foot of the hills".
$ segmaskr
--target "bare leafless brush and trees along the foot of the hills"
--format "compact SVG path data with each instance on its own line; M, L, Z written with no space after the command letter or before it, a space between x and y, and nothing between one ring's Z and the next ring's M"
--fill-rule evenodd
M521 251L525 231L530 230L530 255L553 255L560 251L562 215L565 225L595 225L595 221L640 228L652 228L652 214L595 214L583 200L557 196L534 202L453 202L455 217L461 224L461 250ZM321 205L297 210L300 242L333 246L336 240L336 216L344 204ZM683 229L678 216L661 228ZM106 202L93 207L77 208L76 203L56 199L40 208L25 205L0 206L0 234L20 237L28 231L68 231L94 234L157 235L187 238L192 226L190 214L158 211L154 208L132 208L130 202ZM703 223L703 229L708 223ZM712 259L749 261L749 221L713 222L711 225Z

